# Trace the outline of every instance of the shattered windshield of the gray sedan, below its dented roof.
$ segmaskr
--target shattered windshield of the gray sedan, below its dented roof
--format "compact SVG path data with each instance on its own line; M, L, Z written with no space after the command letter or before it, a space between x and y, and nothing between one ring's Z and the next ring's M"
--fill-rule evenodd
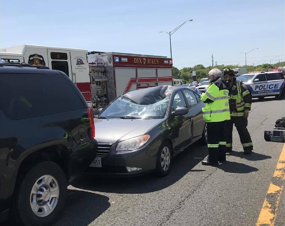
M98 118L105 117L108 119L115 119L120 117L139 117L161 119L165 116L169 97L170 93L163 95L156 103L142 105L125 96L120 96L107 107Z

